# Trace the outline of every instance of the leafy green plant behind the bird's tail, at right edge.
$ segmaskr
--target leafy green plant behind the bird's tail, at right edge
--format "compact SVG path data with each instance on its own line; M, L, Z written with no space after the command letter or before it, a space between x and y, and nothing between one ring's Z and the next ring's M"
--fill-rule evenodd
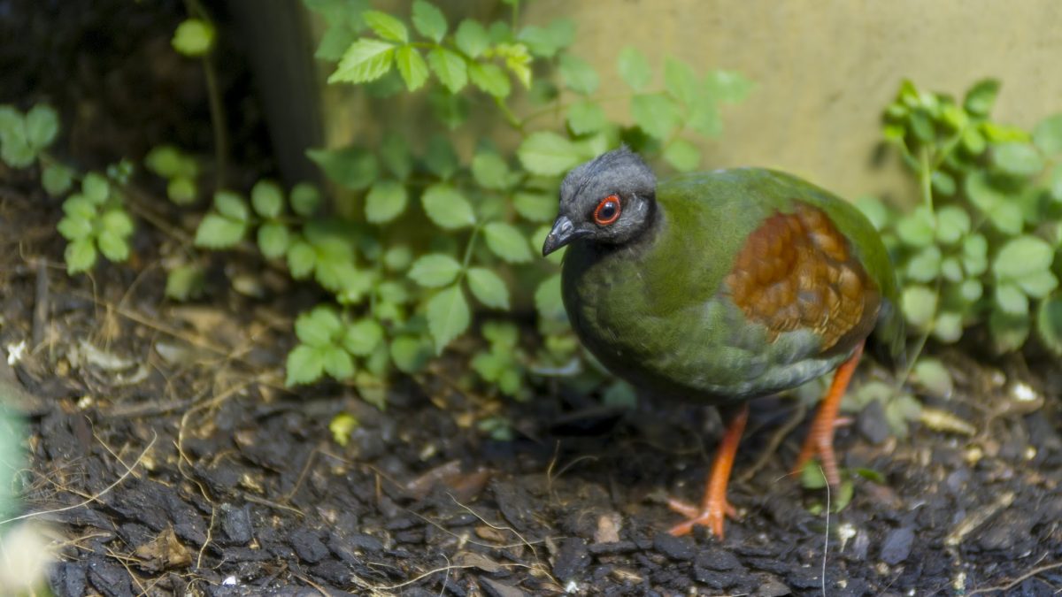
M858 205L885 233L904 288L902 309L923 338L957 342L986 325L999 352L1035 323L1062 354L1062 115L1032 133L991 119L999 84L961 101L905 82L885 112L885 138L918 174L922 201L898 215Z

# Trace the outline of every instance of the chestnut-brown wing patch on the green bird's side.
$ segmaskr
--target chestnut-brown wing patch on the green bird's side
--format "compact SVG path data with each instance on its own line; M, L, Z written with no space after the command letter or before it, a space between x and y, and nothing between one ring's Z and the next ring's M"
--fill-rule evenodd
M770 340L783 331L810 329L822 352L842 339L862 339L874 327L879 291L849 241L821 209L796 202L753 231L726 276L734 304L767 326ZM840 344L840 345L838 345Z

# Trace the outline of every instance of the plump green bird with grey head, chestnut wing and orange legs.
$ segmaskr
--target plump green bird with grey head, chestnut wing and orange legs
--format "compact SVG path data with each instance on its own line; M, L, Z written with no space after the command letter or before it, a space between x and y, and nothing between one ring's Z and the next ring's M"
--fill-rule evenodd
M543 255L563 246L561 293L582 344L643 391L703 403L726 422L700 505L685 519L723 538L749 400L835 372L796 458L827 482L838 409L872 331L892 361L904 320L888 251L851 203L763 168L679 174L657 184L626 146L567 173ZM875 331L876 329L876 331Z

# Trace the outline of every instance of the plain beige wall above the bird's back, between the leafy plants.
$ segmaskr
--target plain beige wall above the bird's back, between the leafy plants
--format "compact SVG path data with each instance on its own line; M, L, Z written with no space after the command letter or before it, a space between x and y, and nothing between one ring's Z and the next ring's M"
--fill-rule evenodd
M524 22L558 16L579 23L572 50L603 89L622 85L626 45L746 73L758 86L704 166L782 168L850 198L905 189L894 165L870 165L903 78L955 95L998 78L995 114L1022 126L1062 110L1062 0L534 0Z

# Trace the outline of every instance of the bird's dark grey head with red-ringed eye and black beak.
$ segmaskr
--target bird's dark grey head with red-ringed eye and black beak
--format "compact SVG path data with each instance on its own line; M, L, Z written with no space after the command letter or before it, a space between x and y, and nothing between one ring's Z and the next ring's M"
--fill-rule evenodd
M656 176L627 147L576 167L561 183L561 208L542 254L586 238L601 244L622 244L638 236L652 220Z

